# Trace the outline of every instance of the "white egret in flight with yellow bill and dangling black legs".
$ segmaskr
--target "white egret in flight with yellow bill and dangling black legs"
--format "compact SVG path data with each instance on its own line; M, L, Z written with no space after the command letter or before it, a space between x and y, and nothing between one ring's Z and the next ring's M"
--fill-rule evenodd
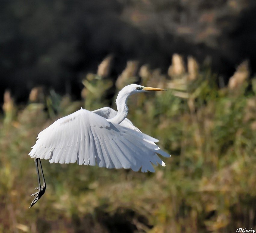
M117 96L117 111L103 107L95 111L80 109L56 120L38 134L36 144L29 155L35 158L38 192L32 207L45 192L46 184L40 159L50 163L78 163L107 168L131 168L133 171L155 172L152 163L165 163L158 157L170 157L155 142L157 139L142 133L126 118L127 98L135 93L164 91L164 89L131 84ZM39 177L41 168L43 185Z

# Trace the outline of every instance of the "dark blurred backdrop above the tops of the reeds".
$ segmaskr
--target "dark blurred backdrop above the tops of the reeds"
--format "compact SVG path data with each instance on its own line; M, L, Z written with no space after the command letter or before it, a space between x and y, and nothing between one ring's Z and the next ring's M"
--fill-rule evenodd
M212 58L227 79L249 59L255 72L254 1L1 1L0 95L26 101L45 85L80 98L81 79L114 54L115 79L129 59L166 73L173 53ZM1 101L2 102L2 101Z

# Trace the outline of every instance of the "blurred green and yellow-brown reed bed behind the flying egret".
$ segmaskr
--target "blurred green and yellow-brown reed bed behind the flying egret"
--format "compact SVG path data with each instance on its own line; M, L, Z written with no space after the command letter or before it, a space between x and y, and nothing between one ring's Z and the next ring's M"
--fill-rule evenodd
M145 174L44 160L47 191L31 209L30 194L37 181L34 161L27 155L30 147L38 132L83 103L51 92L44 103L18 108L11 96L6 98L12 107L4 107L0 122L0 231L255 229L256 79L240 82L238 78L236 88L219 89L211 69L200 68L191 59L189 72L183 60L177 59L183 68L177 72L179 68L172 64L170 77L142 66L143 85L153 83L169 90L134 95L128 103L133 124L158 138L159 146L172 154L164 160L166 167ZM245 73L249 76L248 69ZM88 74L84 79L82 93L89 109L102 107L113 88L107 77Z

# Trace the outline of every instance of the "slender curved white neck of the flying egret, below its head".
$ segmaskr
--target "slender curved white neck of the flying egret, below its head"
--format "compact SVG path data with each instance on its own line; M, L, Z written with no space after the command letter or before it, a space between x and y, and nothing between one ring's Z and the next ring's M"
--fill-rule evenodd
M120 91L117 95L117 115L111 119L108 119L109 122L120 124L127 116L128 107L126 105L127 98L131 93Z

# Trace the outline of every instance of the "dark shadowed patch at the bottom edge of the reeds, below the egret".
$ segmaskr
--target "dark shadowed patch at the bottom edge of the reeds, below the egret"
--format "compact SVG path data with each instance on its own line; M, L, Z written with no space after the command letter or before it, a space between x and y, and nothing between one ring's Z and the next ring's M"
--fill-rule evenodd
M64 219L58 219L57 222L38 219L36 226L39 232L51 232L58 230L59 222L62 222L66 229L75 233L133 233L146 232L153 228L145 216L134 210L119 207L110 213L106 208L107 206L100 206L95 208L92 213L82 216L73 213L71 222L64 221Z

